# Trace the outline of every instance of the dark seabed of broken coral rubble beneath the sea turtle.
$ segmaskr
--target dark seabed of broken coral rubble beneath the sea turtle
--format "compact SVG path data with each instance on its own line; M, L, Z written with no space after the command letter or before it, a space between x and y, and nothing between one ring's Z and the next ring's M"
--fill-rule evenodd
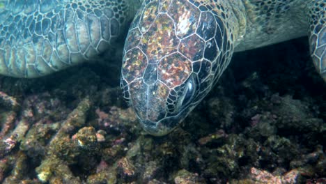
M0 77L0 183L326 183L326 85L308 49L235 54L164 137L123 102L120 63Z

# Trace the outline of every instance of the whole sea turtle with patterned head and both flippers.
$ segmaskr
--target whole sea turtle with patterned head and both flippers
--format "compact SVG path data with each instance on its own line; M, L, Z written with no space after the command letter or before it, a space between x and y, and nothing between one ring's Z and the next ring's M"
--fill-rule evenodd
M121 87L152 135L176 128L233 52L308 35L326 79L325 0L0 1L0 74L39 77L105 60L133 17Z

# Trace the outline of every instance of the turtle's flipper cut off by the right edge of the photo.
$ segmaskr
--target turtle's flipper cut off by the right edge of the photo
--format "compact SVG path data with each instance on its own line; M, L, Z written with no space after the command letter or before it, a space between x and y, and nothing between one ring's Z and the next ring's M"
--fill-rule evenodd
M326 3L313 1L310 6L310 52L313 64L326 82Z

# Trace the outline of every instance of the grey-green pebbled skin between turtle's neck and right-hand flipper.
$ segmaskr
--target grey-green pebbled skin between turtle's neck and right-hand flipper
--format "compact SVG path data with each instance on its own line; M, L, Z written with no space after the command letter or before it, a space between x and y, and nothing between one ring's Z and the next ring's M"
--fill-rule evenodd
M311 1L311 0L310 0ZM235 52L283 42L308 34L307 0L242 0L246 28Z

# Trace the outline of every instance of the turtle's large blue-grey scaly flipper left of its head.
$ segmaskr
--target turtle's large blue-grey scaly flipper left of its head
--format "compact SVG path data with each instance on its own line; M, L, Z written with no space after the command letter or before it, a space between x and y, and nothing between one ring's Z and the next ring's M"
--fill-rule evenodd
M0 8L0 74L38 77L108 51L128 1L9 0ZM130 17L128 17L130 16Z

